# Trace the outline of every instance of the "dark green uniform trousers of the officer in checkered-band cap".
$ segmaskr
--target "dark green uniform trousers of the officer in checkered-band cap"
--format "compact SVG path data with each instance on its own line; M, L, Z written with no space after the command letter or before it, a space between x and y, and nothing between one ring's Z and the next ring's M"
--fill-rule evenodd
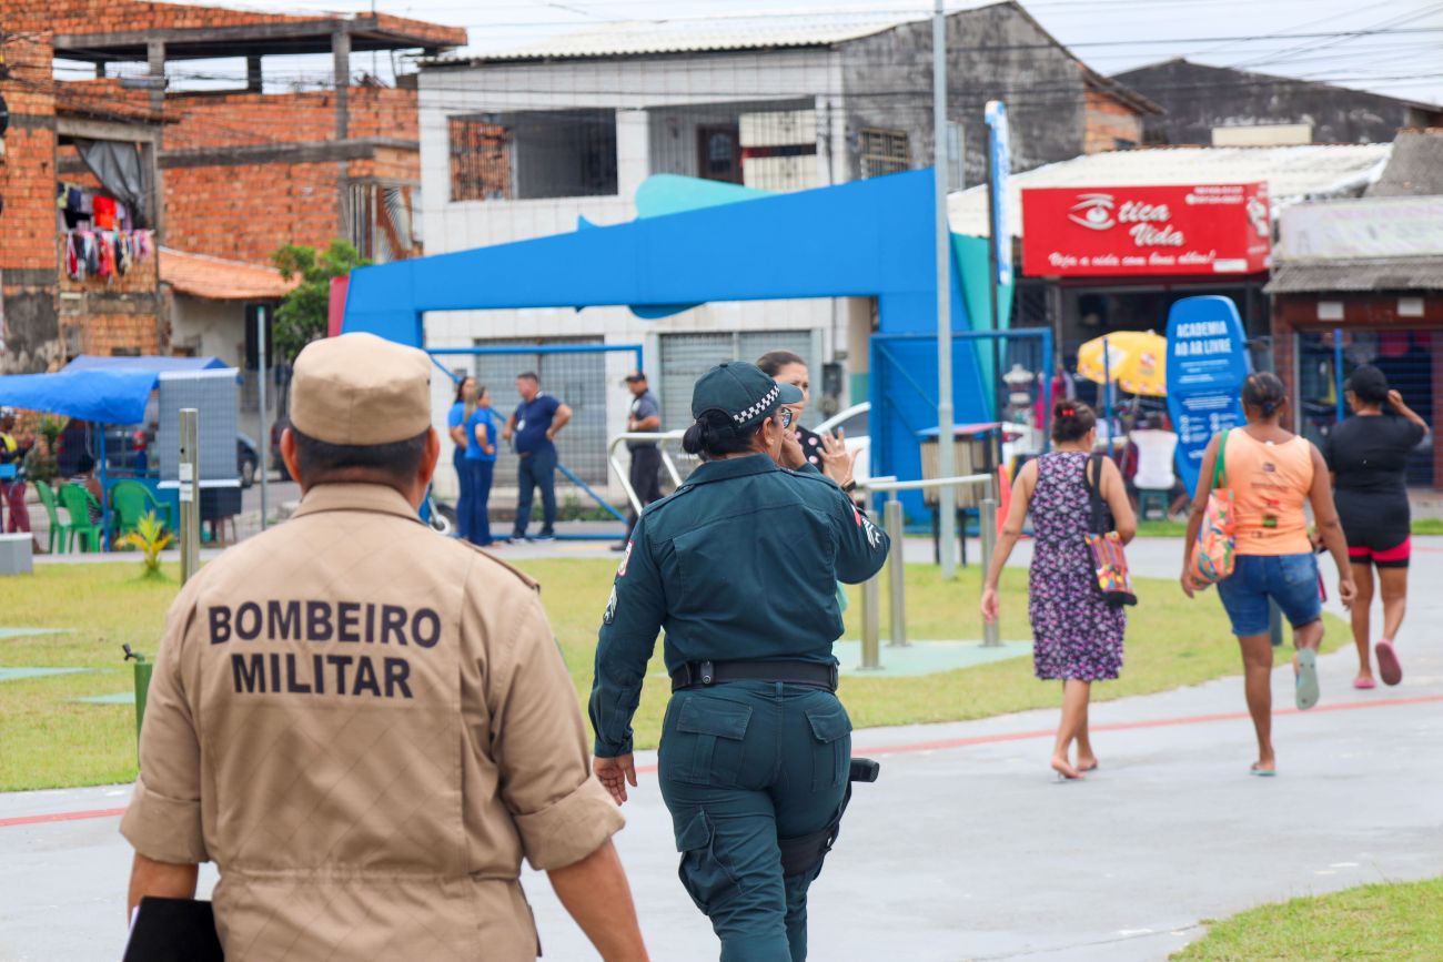
M807 888L821 867L782 874L778 838L824 829L851 767L851 720L827 691L730 682L671 697L661 795L681 884L711 919L722 962L807 958Z

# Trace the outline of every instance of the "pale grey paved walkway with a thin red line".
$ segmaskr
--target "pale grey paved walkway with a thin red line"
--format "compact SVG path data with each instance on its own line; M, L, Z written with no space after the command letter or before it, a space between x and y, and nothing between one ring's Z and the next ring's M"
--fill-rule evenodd
M1280 668L1277 779L1245 775L1254 744L1237 678L1097 705L1102 767L1082 783L1046 770L1055 711L857 733L883 775L859 786L814 888L812 958L1165 959L1202 935L1201 919L1443 874L1443 597L1427 590L1443 542L1420 547L1404 685L1352 691L1343 650L1320 661L1322 705L1299 714ZM1180 554L1169 542L1137 560L1156 551L1160 564L1169 548ZM675 878L655 756L641 764L619 845L654 958L714 958ZM127 796L0 796L0 959L120 956ZM214 874L202 878L208 890ZM547 958L595 958L545 881L525 881Z

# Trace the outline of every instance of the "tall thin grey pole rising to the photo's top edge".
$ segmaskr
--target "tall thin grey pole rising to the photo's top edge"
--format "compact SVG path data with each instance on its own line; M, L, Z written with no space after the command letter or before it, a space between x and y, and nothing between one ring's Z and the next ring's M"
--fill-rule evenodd
M947 219L947 16L942 0L932 7L932 176L937 202L937 470L951 477L955 467L952 438L952 231ZM942 487L942 578L957 577L957 492Z

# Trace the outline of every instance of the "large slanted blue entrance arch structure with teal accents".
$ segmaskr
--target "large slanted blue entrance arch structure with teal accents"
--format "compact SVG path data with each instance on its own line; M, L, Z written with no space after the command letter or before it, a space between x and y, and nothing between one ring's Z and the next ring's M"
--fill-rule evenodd
M582 222L571 234L358 268L342 330L424 348L426 312L629 306L641 317L662 317L706 301L876 297L882 333L935 335L931 170L782 195L685 180L648 180L638 190L641 218L631 224ZM991 323L970 313L987 304L986 247L978 268L977 244L954 237L957 332ZM977 290L962 297L964 275L981 290L980 299ZM978 352L964 345L954 356L954 408L970 420L990 420L991 392ZM935 363L934 348L934 385ZM912 428L883 404L879 389L873 379L872 410L882 412L873 415L873 473L892 470L882 451L896 446L876 443L889 436L912 446L912 456L899 463L915 470ZM935 418L934 407L934 425Z

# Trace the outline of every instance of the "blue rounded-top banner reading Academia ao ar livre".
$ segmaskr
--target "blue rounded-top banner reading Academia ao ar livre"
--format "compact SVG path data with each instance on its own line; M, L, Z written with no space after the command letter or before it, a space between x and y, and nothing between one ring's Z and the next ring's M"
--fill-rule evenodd
M1177 473L1198 489L1202 454L1214 434L1240 427L1242 382L1253 371L1237 304L1185 297L1167 313L1167 412L1177 433Z

